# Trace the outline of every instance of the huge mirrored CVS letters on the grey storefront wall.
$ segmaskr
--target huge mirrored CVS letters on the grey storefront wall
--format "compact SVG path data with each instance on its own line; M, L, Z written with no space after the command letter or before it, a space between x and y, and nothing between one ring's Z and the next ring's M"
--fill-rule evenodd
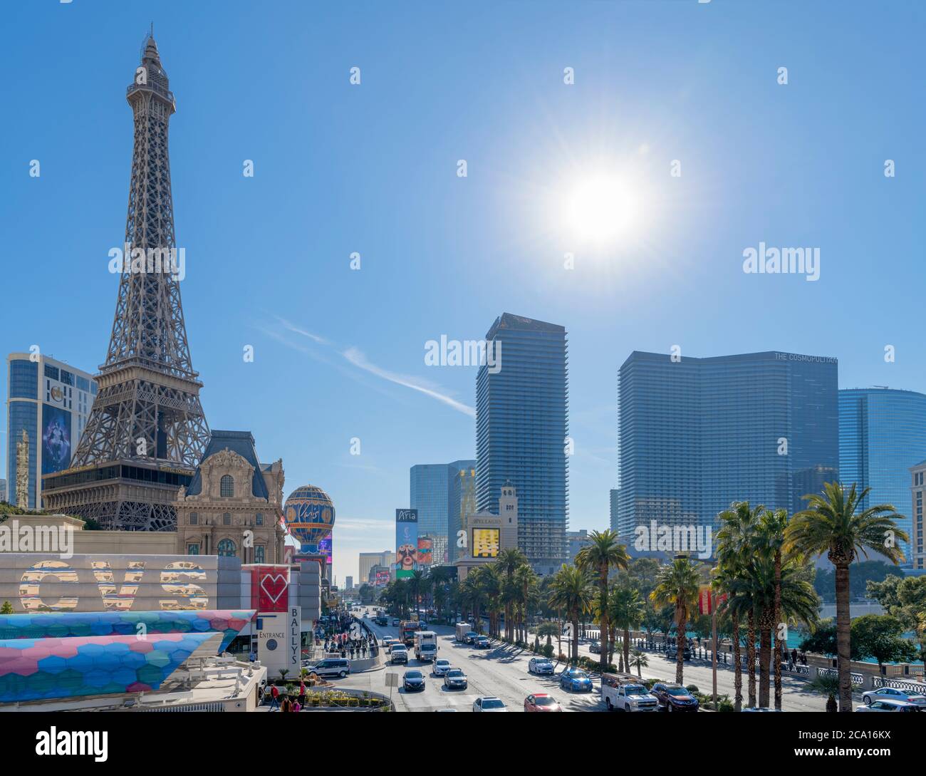
M201 566L188 560L175 560L145 571L146 562L130 560L125 569L114 570L107 560L92 560L89 569L75 568L64 560L40 560L25 569L19 578L19 603L27 612L76 611L81 603L81 594L86 596L88 588L95 587L101 610L128 611L135 602L139 587L144 584L144 608L152 608L150 599L159 595L164 597L157 597L157 605L164 610L208 607L209 595L201 584L197 584L208 582L206 570ZM117 575L121 579L117 579ZM58 594L56 600L43 598L43 583L46 590L54 583ZM70 595L71 585L73 595ZM159 585L159 590L156 585ZM86 602L81 608L88 610Z

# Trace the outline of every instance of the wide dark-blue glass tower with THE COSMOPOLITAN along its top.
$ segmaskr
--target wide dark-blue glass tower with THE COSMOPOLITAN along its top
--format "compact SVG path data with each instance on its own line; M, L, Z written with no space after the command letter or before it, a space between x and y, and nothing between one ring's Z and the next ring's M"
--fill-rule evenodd
M715 524L733 501L804 508L838 478L837 361L634 351L619 371L617 529Z

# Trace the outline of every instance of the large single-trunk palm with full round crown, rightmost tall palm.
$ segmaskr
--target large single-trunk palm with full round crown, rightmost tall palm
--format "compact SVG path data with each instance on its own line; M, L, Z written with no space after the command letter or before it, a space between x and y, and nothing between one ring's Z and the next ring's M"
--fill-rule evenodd
M895 564L904 556L898 542L907 542L907 533L897 528L903 519L890 504L861 508L869 494L860 494L856 485L846 493L840 482L827 482L822 494L804 496L807 509L798 512L785 530L785 551L795 550L807 557L824 552L836 569L836 669L839 671L839 710L852 711L852 673L849 620L849 567L860 553L868 550L887 557Z

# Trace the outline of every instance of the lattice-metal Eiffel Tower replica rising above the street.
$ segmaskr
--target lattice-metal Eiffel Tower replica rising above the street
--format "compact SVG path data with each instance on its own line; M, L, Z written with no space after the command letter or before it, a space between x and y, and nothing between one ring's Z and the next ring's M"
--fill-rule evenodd
M170 531L174 498L191 482L209 429L177 271L168 152L176 103L153 34L126 97L135 134L112 335L70 468L43 478L43 498L46 509L104 529Z

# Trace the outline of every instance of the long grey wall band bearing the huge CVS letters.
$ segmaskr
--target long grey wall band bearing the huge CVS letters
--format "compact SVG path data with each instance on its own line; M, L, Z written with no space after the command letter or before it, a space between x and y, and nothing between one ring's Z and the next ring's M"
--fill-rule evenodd
M228 575L228 582L240 584L237 565L232 569L219 560L184 555L63 560L41 553L0 553L0 601L24 612L215 608L219 577Z

